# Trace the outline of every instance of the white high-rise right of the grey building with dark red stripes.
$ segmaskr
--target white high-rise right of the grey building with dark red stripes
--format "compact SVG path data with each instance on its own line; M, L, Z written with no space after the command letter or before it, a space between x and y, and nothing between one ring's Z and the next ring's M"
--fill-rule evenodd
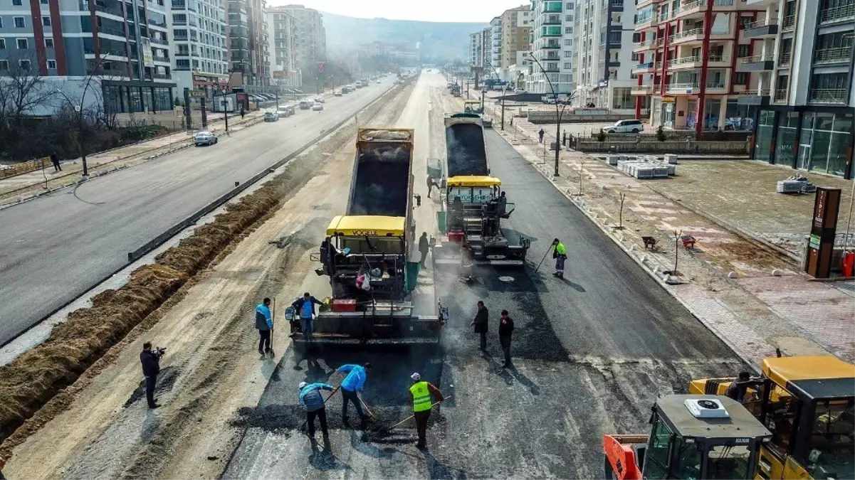
M173 78L178 94L203 90L212 98L226 88L226 9L220 0L171 0Z

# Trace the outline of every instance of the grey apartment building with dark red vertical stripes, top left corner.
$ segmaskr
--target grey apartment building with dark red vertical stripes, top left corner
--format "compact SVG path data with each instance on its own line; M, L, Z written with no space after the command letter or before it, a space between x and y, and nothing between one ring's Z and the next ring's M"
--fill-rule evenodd
M38 73L46 80L44 88L59 89L75 103L83 97L84 108L126 113L173 107L164 0L9 0L4 5L0 76ZM97 75L100 95L84 95L90 75ZM57 97L32 114L51 114L62 101Z

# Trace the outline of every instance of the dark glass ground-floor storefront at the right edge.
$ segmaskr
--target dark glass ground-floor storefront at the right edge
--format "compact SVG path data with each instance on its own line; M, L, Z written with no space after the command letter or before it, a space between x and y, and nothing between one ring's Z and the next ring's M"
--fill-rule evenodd
M764 108L757 114L752 158L852 179L855 108Z

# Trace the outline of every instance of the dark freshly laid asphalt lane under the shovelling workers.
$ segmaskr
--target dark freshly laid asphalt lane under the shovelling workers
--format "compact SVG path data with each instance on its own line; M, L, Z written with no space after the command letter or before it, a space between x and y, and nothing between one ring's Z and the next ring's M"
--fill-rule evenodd
M492 174L516 211L505 229L532 239L524 270L482 268L475 284L438 272L437 295L451 308L439 349L323 348L289 351L259 406L242 412L239 448L224 478L570 478L603 476L602 434L646 433L658 394L685 391L690 378L733 374L740 360L662 290L496 132L486 133ZM553 237L568 246L565 280L551 258L534 272ZM475 302L490 309L487 355L469 327ZM516 368L500 368L498 313L516 321ZM327 404L331 442L298 432L297 384L338 384L333 369L371 361L363 398L380 419L367 432L344 429L340 395ZM428 452L407 417L411 372L453 395L434 409ZM351 422L357 424L352 413Z

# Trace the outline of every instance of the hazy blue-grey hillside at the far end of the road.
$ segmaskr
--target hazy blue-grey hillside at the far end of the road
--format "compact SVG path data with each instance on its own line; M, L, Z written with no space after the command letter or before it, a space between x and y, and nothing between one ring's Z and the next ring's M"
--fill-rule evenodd
M486 24L439 23L415 20L362 19L323 13L327 29L327 51L331 55L354 50L360 44L421 45L422 58L466 59L469 33Z

